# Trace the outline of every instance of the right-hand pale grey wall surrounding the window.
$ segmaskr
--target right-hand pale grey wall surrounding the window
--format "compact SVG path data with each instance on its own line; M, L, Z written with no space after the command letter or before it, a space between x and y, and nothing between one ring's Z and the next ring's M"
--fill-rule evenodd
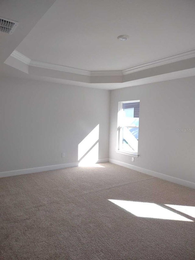
M140 100L139 157L115 152L119 101ZM111 91L109 158L195 183L195 77Z

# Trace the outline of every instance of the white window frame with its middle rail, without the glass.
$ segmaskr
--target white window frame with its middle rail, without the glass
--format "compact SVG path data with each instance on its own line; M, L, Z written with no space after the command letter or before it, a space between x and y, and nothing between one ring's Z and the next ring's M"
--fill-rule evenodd
M119 102L119 107L118 107L118 112L120 112L122 110L122 105L125 103L137 103L140 102L140 100L132 100L132 101L120 101ZM117 118L117 122L119 121L119 117ZM118 124L118 128L117 128L117 148L116 148L116 152L121 153L121 154L125 154L125 155L130 155L132 157L138 157L138 151L137 152L129 152L129 151L125 151L122 149L122 127L120 124ZM131 127L131 128L138 128L139 126L125 126L125 127ZM138 142L139 144L139 142Z

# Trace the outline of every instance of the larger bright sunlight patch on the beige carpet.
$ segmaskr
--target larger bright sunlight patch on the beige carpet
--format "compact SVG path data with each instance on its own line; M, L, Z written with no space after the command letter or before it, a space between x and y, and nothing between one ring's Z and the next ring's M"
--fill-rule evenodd
M132 213L137 217L142 218L153 218L153 219L170 219L170 220L181 220L181 221L190 221L175 212L167 208L163 208L155 203L149 202L139 202L139 201L123 201L123 200L110 200L112 203L118 205L121 208L124 208L126 211Z

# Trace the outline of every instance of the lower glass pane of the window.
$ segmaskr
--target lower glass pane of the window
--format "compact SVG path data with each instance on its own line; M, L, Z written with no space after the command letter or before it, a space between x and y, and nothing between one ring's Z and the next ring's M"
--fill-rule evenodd
M139 133L139 128L123 126L123 128L122 128L122 149L124 151L137 153L137 151L138 151L138 133Z

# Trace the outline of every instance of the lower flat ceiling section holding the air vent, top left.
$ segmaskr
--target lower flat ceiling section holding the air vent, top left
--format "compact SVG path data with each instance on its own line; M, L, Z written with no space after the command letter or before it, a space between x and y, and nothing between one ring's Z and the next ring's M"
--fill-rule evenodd
M55 0L0 0L0 17L19 22L12 35L0 33L0 73L2 64Z

